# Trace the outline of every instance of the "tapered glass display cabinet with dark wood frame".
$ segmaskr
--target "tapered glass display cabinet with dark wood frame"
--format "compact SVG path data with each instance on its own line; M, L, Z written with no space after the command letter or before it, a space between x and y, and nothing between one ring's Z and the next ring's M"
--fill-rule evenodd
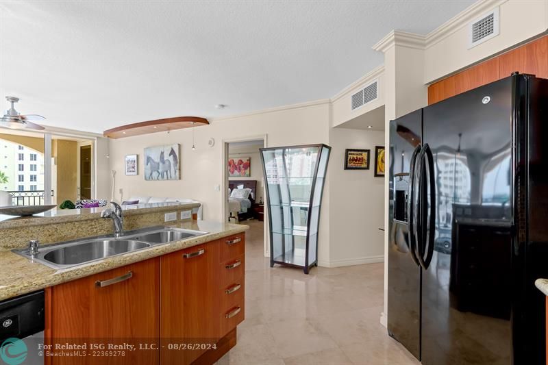
M321 197L331 147L325 144L260 149L269 209L270 266L318 264Z

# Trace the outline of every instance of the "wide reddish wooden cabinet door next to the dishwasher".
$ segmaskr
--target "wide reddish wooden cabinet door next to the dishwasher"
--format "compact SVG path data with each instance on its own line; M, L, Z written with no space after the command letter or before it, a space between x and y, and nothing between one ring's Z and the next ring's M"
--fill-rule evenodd
M86 344L86 356L46 357L46 364L159 364L159 288L158 257L47 288L46 343Z

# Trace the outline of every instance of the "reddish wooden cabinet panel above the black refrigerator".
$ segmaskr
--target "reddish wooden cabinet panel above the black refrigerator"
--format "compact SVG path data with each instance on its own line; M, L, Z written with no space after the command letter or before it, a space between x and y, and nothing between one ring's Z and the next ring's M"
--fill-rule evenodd
M514 71L548 78L548 36L435 82L428 87L428 104L503 79Z

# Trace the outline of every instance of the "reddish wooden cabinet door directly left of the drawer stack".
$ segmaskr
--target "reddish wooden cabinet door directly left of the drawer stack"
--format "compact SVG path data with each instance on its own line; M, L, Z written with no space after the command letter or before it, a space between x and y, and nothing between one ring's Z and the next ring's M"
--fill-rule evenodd
M162 256L160 272L160 361L190 364L221 338L219 241Z

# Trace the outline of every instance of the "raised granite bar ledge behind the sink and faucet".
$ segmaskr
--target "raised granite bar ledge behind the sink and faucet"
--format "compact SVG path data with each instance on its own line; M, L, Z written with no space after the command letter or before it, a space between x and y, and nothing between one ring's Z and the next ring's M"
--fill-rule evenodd
M162 212L164 210L188 209L199 207L200 203L147 203L136 205L123 205L122 210L125 216L132 214L145 214L150 212ZM0 229L16 228L29 225L47 225L51 223L85 221L96 219L101 216L103 210L110 205L86 209L59 209L53 208L47 212L35 214L34 216L7 216L0 214Z

